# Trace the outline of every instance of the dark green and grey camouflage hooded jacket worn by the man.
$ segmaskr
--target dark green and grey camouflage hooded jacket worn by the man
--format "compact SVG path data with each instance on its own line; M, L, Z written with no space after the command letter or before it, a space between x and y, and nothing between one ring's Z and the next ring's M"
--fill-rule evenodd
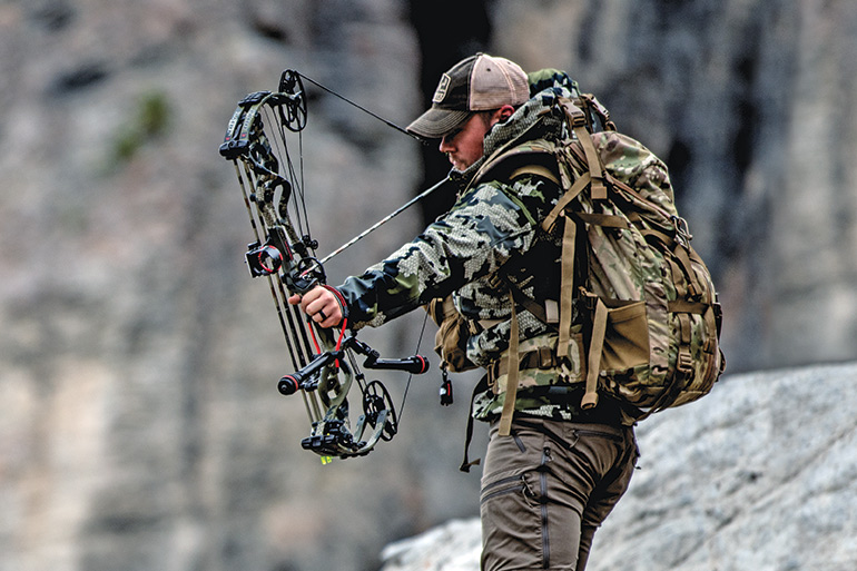
M459 194L450 211L413 242L338 287L348 304L352 327L378 326L452 294L456 309L477 329L467 341L467 358L491 370L509 346L509 282L536 301L559 297L560 240L545 235L539 224L559 199L558 185L534 175L511 181L489 177L471 184L485 157L510 141L516 145L562 135L561 121L542 111L558 97L577 97L577 85L562 72L543 70L531 75L531 88L534 96L530 101L485 136L483 158L463 173L451 174ZM551 325L522 306L515 311L522 354L551 343L555 347ZM567 361L550 370L522 371L515 408L540 416L574 416L579 396L556 403L555 397L550 400L545 391L538 388L581 381L579 353L572 352ZM500 375L475 398L475 417L492 420L499 414L504 377Z

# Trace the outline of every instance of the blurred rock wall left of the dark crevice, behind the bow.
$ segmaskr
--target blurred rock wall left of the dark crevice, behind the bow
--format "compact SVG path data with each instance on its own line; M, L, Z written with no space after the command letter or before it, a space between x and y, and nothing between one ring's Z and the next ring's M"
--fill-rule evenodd
M396 120L418 98L397 2L308 8L0 3L2 571L359 569L391 536L461 513L422 483L434 471L408 452L418 422L374 462L324 467L301 450L303 404L276 392L288 360L217 152L235 105L286 67ZM408 198L418 145L311 89L306 193L324 253ZM154 130L147 101L166 108ZM413 352L420 325L366 341ZM396 403L403 387L391 378Z

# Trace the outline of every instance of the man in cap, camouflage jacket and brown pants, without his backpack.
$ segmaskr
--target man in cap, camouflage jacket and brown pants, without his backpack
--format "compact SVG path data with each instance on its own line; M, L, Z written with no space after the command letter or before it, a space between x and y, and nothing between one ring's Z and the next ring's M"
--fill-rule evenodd
M440 139L459 186L455 205L361 276L289 299L323 327L347 316L359 328L446 298L442 334L461 337L441 339L446 363L486 371L472 407L473 417L491 425L481 493L486 571L582 571L595 529L627 490L638 456L615 402L602 397L597 407L580 408L582 324L574 324L567 356L558 356L555 325L518 301L524 295L550 307L559 298L561 237L540 227L561 195L555 178L523 168L480 173L474 181L501 147L562 136L561 120L545 111L558 97L578 95L564 73L528 78L518 65L484 53L453 66L408 130ZM456 319L463 327L449 326ZM513 334L520 364L514 415L510 408L503 431ZM545 391L552 385L570 391L556 397Z

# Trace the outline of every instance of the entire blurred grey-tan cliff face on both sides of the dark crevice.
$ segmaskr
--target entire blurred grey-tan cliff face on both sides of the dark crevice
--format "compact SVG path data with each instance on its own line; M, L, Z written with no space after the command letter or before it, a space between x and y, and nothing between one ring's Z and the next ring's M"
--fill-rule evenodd
M286 67L406 124L417 40L447 38L456 3L415 28L394 0L0 0L0 571L356 571L475 513L479 479L455 471L470 377L450 408L436 376L415 381L368 459L301 450L216 150L236 101ZM855 2L485 6L456 49L569 69L668 160L733 373L857 357ZM328 252L412 195L422 149L309 89L308 208ZM411 213L375 233L331 280L417 228ZM410 353L421 325L365 339ZM385 380L400 402L404 380Z

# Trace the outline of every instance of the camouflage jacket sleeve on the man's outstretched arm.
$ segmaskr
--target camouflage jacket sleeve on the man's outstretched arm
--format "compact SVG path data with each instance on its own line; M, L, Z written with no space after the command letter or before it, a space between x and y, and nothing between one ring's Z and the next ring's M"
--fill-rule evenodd
M510 188L479 185L413 242L338 287L351 326L378 326L492 274L534 236L533 218Z

